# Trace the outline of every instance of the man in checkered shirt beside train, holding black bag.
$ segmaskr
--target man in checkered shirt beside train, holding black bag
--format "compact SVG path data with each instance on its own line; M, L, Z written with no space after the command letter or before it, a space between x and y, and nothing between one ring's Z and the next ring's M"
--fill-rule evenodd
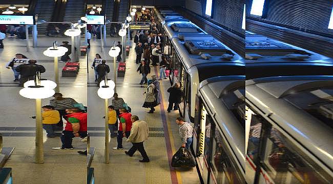
M179 126L179 136L181 139L181 147L190 149L193 142L193 127L190 123L184 122L181 117L176 118L176 123Z

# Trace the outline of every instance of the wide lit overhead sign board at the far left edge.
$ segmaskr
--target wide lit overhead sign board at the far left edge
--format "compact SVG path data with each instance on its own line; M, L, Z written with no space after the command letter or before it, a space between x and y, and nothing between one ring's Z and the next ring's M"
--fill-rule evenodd
M34 16L0 15L0 25L34 25Z

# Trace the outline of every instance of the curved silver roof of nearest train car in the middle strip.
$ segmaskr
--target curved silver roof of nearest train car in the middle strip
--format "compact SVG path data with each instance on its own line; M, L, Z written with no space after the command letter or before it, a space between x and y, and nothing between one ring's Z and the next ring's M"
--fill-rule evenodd
M244 172L245 76L206 79L200 83L198 91L206 104L206 110L222 130L230 152L236 155L234 159L238 160Z

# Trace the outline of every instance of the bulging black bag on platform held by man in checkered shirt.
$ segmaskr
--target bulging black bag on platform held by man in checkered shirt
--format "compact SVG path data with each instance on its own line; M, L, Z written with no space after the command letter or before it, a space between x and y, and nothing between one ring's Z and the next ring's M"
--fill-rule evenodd
M195 165L195 160L191 151L186 148L180 147L172 157L172 167L194 168Z

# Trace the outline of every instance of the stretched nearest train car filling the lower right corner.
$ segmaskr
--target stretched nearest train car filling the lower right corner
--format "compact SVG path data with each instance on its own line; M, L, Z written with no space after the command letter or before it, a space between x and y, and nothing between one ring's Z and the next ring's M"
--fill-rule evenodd
M333 181L333 76L246 81L246 182Z

